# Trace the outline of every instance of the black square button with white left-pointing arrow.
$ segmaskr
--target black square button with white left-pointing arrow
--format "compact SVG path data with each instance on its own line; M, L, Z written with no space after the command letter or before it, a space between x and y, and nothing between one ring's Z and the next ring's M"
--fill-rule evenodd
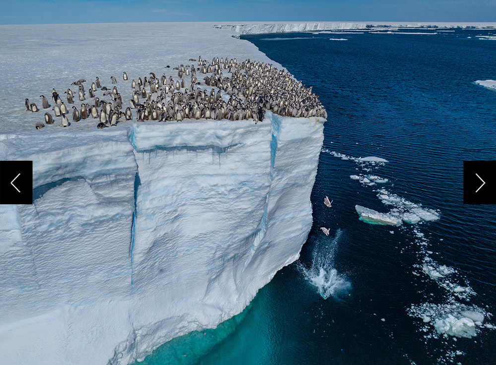
M0 161L0 204L33 204L33 161Z

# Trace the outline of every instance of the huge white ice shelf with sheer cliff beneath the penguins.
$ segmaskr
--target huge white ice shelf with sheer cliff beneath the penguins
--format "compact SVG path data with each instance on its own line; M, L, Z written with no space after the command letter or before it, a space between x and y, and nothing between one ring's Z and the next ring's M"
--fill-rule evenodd
M43 112L25 112L79 78L119 86L198 55L281 67L212 25L0 26L0 160L33 160L35 199L0 206L2 364L143 359L240 313L299 257L321 119L35 130Z

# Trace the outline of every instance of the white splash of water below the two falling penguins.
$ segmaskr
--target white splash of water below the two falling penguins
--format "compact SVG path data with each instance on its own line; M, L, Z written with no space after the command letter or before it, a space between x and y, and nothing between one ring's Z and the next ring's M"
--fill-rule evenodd
M343 231L338 229L334 238L315 244L310 268L306 268L301 261L298 263L305 279L317 288L317 293L323 299L339 297L351 289L351 283L334 267L334 253L342 234Z

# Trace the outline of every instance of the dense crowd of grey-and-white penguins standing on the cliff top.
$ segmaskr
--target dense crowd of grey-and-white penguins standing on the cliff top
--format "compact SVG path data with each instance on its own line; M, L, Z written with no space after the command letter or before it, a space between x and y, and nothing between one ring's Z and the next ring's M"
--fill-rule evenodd
M196 62L194 59L189 61ZM135 110L135 121L138 122L227 119L253 120L257 123L263 120L267 110L284 117L327 119L327 113L317 95L311 92L311 87L306 88L289 72L278 70L272 64L249 60L238 63L236 59L219 60L218 57L207 62L200 56L196 65L181 64L174 70L177 70L178 77L167 77L165 73L156 77L150 72L148 78L138 77L137 82L133 79L130 83L132 99L128 100L127 108L123 107L117 86L112 89L102 86L97 77L86 93L83 85L86 80L79 79L72 83L77 86L77 92L70 88L64 92L67 105L74 104L75 98L83 102L89 96L93 101L82 103L80 108L73 105L71 121L97 119L97 128L105 128L133 120L131 110ZM188 79L189 86L186 86L185 79ZM118 83L114 76L110 80L112 84ZM127 81L125 72L123 80ZM102 93L101 97L97 96L97 92ZM50 108L47 98L44 95L40 97L43 109ZM55 89L52 89L51 98L55 103L52 107L55 117L61 118L62 126L68 126L67 105ZM30 103L28 99L25 100L25 107L26 111L38 112L36 104ZM45 123L54 123L49 112L45 113ZM43 122L35 125L36 129L44 126Z

